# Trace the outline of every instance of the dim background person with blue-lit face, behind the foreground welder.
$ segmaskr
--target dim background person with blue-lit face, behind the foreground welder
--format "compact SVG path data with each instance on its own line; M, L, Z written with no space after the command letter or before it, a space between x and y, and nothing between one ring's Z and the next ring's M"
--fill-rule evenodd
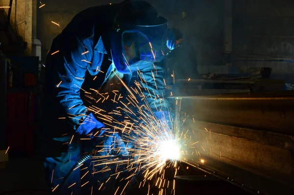
M168 43L172 50L167 57L160 63L164 64L168 77L176 79L198 79L197 55L193 45L184 39L179 29L169 29L169 37L172 37L171 43ZM174 74L174 75L173 75Z

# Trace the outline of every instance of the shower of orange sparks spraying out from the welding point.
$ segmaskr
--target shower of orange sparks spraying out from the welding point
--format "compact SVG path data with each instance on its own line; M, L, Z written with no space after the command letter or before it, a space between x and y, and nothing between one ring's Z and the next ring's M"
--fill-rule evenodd
M150 47L152 48L151 44ZM169 114L170 112L164 112L168 114L164 115L163 119L159 120L155 117L153 110L151 110L147 103L147 97L154 97L154 101L159 102L161 105L167 100L162 95L156 95L152 90L149 91L145 85L147 83L144 75L140 71L138 71L138 74L139 81L135 81L132 87L128 87L115 74L119 80L118 84L123 85L126 93L120 93L119 90L103 93L92 88L89 90L91 93L85 91L86 97L89 98L89 101L88 99L86 101L91 103L87 107L87 110L95 113L98 120L106 126L106 128L103 128L105 131L103 136L99 134L100 132L94 132L91 136L113 139L111 143L107 142L107 144L103 143L104 141L98 141L95 155L90 159L91 166L89 168L91 167L90 169L92 170L89 172L89 168L84 164L79 166L81 171L84 171L81 173L81 179L87 174L95 176L97 174L109 173L107 178L99 179L98 190L103 191L109 183L112 183L112 180L117 180L121 185L115 188L115 194L123 195L126 193L126 189L133 185L134 178L141 175L143 178L140 181L139 188L148 188L148 195L154 186L161 195L166 190L170 190L174 194L175 180L173 178L167 178L167 169L172 168L174 170L172 174L174 177L180 168L177 162L187 162L186 155L188 152L191 151L192 155L195 152L195 155L200 156L199 151L196 151L196 149L198 150L198 145L196 145L198 141L191 140L191 134L192 132L194 133L193 130L189 131L182 128L189 114L185 113L183 115L184 118L180 117L179 114L173 118ZM155 83L154 74L152 72L153 82ZM80 89L83 90L82 88ZM106 102L107 100L111 101L114 105L117 104L116 108L112 111L105 111L102 108L98 108L96 104L98 102ZM179 103L180 105L181 101ZM74 116L77 117L78 115L68 117L73 118ZM60 117L59 119L65 118ZM192 120L192 117L190 119ZM195 121L194 118L193 121ZM80 124L82 124L82 121ZM121 138L117 139L116 135L120 135ZM87 141L85 138L83 140ZM72 141L73 136L69 144ZM203 147L202 149L204 150ZM204 160L202 162L201 159L200 162L203 164ZM89 181L80 182L82 187L88 183ZM73 185L75 183L69 184L68 188Z

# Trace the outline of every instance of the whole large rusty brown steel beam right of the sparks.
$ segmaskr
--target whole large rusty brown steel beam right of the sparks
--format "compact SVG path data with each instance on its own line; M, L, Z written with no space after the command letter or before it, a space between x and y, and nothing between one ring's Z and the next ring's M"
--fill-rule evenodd
M189 161L265 195L294 192L294 92L175 98ZM193 144L193 145L192 145ZM200 156L201 155L201 156ZM204 159L202 164L200 159Z

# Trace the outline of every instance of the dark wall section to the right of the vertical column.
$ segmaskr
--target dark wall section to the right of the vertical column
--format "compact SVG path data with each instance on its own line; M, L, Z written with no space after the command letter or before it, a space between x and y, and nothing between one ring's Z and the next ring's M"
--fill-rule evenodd
M293 16L293 0L235 0L234 58L294 60ZM271 67L273 77L287 79L289 82L294 72L293 62L249 61L234 62L233 66L240 72L247 72L253 67Z

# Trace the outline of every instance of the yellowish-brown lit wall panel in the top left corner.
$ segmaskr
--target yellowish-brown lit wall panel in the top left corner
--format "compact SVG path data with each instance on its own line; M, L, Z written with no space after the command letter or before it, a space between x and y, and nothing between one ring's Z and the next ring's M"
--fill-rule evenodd
M36 0L13 0L10 23L18 35L27 42L25 54L30 56L32 51L33 2ZM9 0L0 0L0 6L9 6ZM8 13L8 8L5 8Z

